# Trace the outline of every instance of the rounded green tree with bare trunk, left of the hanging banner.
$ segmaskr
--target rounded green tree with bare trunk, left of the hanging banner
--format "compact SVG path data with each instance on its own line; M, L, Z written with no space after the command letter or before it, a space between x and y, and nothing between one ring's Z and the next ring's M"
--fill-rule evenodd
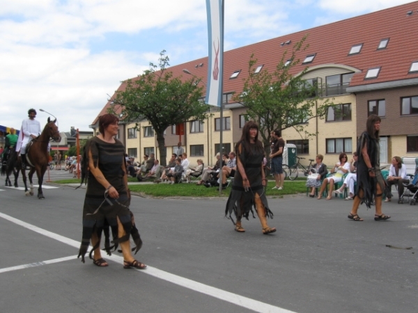
M192 77L182 81L181 77L173 77L170 72L169 57L165 50L160 53L159 67L150 63L150 69L144 71L136 79L125 81L124 91L118 91L111 99L112 111L116 107L122 109L123 120L138 122L146 119L153 126L157 134L157 143L160 150L160 163L166 166L167 155L164 149L164 131L171 125L199 120L204 122L207 118L208 106L201 102L202 87L199 79Z

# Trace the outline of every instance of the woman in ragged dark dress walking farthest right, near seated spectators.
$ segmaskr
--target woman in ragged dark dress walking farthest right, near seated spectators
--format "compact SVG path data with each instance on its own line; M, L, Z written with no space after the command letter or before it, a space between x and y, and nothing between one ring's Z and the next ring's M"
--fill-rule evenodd
M382 214L382 193L385 190L385 179L380 172L380 145L379 145L380 118L371 114L366 122L366 131L360 136L357 153L357 193L354 198L353 208L348 218L355 221L363 219L357 215L360 203L365 203L370 208L376 202L375 220L388 220L390 216Z

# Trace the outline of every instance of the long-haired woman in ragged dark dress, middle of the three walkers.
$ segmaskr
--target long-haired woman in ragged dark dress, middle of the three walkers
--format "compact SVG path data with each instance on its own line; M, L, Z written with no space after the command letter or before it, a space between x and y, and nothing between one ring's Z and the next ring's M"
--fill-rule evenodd
M258 141L258 125L247 122L242 129L242 136L235 146L237 154L237 168L233 179L232 191L226 202L225 216L231 218L235 231L245 232L242 228L242 216L247 218L254 205L261 221L263 234L270 234L276 228L269 227L266 217L273 217L265 198L264 187L267 184L263 170L263 145ZM231 214L237 218L234 222ZM228 216L229 215L229 216Z

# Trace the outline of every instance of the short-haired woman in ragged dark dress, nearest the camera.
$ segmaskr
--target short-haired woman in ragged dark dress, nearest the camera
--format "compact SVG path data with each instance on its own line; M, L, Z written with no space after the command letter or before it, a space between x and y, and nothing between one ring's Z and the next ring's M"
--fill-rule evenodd
M90 258L93 264L108 266L100 254L100 237L104 231L104 246L109 255L111 248L116 250L120 244L123 267L144 269L146 265L134 259L130 249L130 235L137 245L136 252L141 248L142 241L129 209L125 147L114 138L118 134L118 121L114 115L102 115L99 120L100 134L89 139L84 146L82 181L88 172L88 184L83 208L83 239L78 257L81 256L84 263L84 255L91 241L93 248ZM114 239L112 247L109 245L109 226Z

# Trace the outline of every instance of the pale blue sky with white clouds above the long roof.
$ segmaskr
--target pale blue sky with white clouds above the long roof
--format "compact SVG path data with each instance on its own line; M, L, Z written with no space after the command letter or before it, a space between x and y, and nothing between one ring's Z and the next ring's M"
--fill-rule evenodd
M225 50L398 6L403 0L226 0ZM0 6L0 125L27 111L90 130L123 79L208 55L205 0L13 0Z

